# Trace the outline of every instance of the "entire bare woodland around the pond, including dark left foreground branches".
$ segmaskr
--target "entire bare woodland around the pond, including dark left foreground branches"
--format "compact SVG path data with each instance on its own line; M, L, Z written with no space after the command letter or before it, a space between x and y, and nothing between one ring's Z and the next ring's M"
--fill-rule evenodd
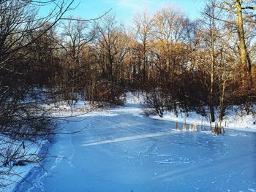
M0 1L1 168L20 159L17 141L59 131L49 104L116 106L125 92L142 92L146 115L197 112L218 125L215 134L234 106L256 114L255 0L208 0L196 20L171 5L142 9L129 26L112 9L75 18L73 7Z

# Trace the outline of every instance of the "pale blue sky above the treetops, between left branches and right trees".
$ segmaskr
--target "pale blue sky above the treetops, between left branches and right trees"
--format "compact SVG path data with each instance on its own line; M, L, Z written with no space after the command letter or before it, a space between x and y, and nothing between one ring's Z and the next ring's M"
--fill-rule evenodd
M80 18L97 18L104 12L112 9L116 13L116 18L129 24L135 13L147 8L149 12L155 12L159 7L166 4L180 8L189 18L197 18L200 8L203 7L204 0L75 0L75 5L79 6L68 13Z

